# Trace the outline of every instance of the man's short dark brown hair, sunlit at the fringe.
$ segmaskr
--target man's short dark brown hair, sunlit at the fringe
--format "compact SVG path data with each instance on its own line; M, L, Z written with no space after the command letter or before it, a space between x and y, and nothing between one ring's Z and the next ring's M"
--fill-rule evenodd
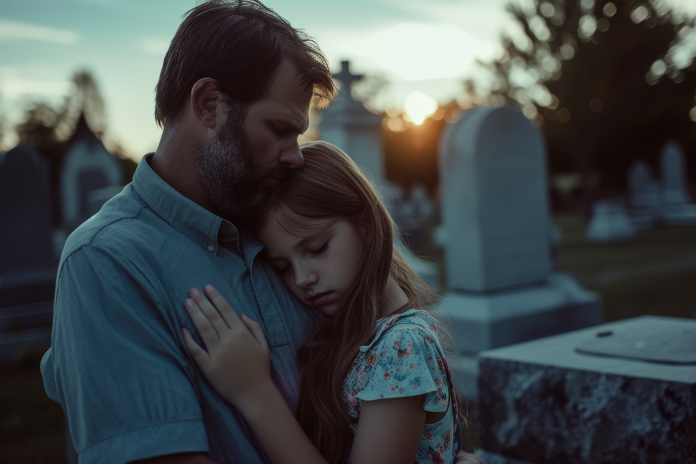
M312 89L317 106L329 104L335 88L317 44L257 0L210 0L191 8L169 45L155 88L155 120L177 120L193 84L211 77L231 101L251 104L273 83L288 58Z

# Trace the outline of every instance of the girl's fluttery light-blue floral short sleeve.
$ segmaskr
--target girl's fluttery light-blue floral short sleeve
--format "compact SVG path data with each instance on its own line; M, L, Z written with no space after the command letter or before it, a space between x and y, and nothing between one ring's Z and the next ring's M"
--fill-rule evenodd
M363 401L425 395L423 409L443 412L449 387L436 336L418 323L400 322L370 346L356 397Z

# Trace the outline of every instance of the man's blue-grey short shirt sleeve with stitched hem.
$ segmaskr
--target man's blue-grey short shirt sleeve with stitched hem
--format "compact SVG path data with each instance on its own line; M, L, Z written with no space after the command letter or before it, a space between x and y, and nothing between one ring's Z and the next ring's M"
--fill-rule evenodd
M112 250L85 246L61 266L41 370L80 463L208 451L193 374L156 294Z

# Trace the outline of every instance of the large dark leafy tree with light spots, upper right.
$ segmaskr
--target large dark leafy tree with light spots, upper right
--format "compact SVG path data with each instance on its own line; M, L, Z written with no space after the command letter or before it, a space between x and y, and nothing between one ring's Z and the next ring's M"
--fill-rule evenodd
M656 165L667 139L693 143L693 18L658 0L533 0L507 10L522 33L505 36L503 56L488 65L493 97L541 126L552 172L582 175L585 210L591 173L613 191L635 159Z

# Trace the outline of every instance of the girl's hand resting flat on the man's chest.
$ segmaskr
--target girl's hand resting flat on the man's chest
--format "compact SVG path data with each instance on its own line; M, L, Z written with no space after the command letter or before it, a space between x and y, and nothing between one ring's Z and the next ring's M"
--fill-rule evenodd
M242 410L257 405L275 388L271 381L268 343L259 323L237 316L230 303L212 285L189 290L184 302L205 351L182 329L184 343L207 379L227 401Z

